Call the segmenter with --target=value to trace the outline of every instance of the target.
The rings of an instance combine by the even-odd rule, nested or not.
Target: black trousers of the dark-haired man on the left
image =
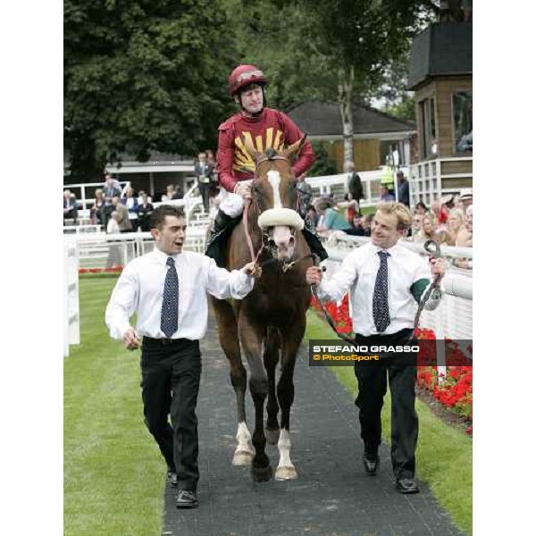
[[[197,394],[201,378],[198,340],[163,344],[144,337],[141,348],[141,396],[148,430],[179,488],[197,490]],[[168,420],[171,417],[171,424]]]

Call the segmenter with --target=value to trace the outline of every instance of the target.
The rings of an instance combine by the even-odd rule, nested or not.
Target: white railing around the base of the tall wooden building
[[[419,201],[430,206],[433,201],[448,193],[443,189],[443,179],[471,179],[472,172],[446,173],[445,164],[470,162],[473,156],[457,156],[453,158],[433,158],[412,164],[409,168],[410,204],[415,206]],[[456,188],[455,188],[456,189]]]

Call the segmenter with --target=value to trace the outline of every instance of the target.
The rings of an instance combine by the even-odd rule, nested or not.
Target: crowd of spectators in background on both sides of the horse
[[[359,202],[363,199],[363,186],[353,164],[348,166],[348,192],[344,200],[337,202],[331,196],[313,199],[310,186],[300,182],[300,199],[306,218],[322,237],[333,233],[353,236],[371,236],[373,214],[362,214]],[[195,163],[199,193],[203,198],[205,212],[210,200],[218,193],[217,169],[214,153],[210,150],[199,153]],[[394,185],[381,184],[381,201],[394,201]],[[409,183],[402,172],[397,173],[397,195],[401,203],[409,206]],[[181,199],[182,189],[174,185],[166,188],[162,201]],[[217,197],[214,204],[217,205]],[[154,211],[152,199],[143,190],[138,195],[133,188],[126,188],[121,195],[118,180],[107,173],[102,188],[97,188],[95,201],[89,210],[92,224],[101,225],[106,232],[133,232],[149,230],[149,218]],[[413,209],[412,226],[407,230],[406,240],[425,242],[433,240],[439,245],[473,247],[473,190],[463,188],[459,194],[436,199],[430,207],[421,201]],[[63,221],[76,223],[77,200],[70,190],[63,192]],[[464,263],[461,263],[464,264]]]

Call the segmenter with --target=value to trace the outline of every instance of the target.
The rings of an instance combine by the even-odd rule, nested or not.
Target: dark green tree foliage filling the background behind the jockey
[[[71,173],[95,179],[123,152],[145,160],[151,150],[214,147],[219,122],[234,110],[227,78],[238,63],[265,71],[268,104],[282,110],[320,99],[348,111],[382,91],[393,105],[424,5],[430,1],[64,0]]]

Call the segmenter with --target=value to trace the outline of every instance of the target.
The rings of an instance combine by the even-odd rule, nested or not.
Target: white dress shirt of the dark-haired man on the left
[[[127,264],[106,307],[105,322],[113,339],[122,339],[130,328],[129,318],[138,314],[139,336],[163,339],[160,329],[166,255],[155,249]],[[206,292],[214,297],[241,299],[253,289],[254,279],[244,272],[218,268],[205,255],[183,251],[172,255],[179,276],[179,329],[172,339],[201,339],[206,332]]]

